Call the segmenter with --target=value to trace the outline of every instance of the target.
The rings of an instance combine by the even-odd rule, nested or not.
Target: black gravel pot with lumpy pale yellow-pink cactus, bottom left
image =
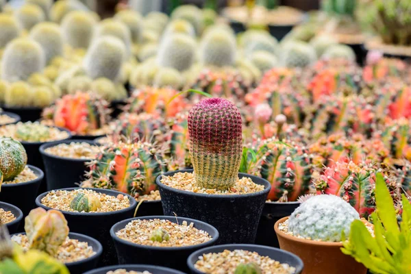
[[[32,210],[25,217],[25,234],[12,235],[23,251],[38,250],[66,264],[71,273],[94,269],[103,251],[101,244],[88,236],[69,232],[62,212]]]

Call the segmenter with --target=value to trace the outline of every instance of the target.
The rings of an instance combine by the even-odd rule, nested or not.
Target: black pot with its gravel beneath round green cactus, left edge
[[[43,177],[44,173],[40,169],[28,164],[14,179],[1,184],[0,201],[20,208],[23,216],[26,216],[34,207]]]

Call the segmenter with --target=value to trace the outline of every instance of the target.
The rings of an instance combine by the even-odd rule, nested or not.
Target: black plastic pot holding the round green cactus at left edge
[[[44,173],[37,167],[29,164],[27,166],[34,171],[37,179],[25,183],[2,184],[0,191],[0,201],[11,203],[13,206],[20,208],[23,216],[27,216],[30,210],[34,208],[38,188],[44,177]]]

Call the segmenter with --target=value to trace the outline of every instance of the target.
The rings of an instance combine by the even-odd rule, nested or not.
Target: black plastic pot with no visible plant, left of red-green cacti
[[[86,172],[86,162],[91,159],[64,158],[51,155],[45,149],[59,144],[70,144],[71,142],[87,142],[90,145],[97,145],[90,140],[62,140],[58,142],[46,143],[40,146],[40,154],[45,166],[47,179],[47,190],[58,188],[74,188],[76,183],[82,182]]]

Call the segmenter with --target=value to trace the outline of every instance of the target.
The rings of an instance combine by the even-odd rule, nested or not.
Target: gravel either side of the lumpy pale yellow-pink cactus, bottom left
[[[29,241],[24,234],[17,234],[12,236],[12,241],[23,247],[23,250],[29,249]],[[88,246],[87,242],[79,242],[79,240],[70,239],[69,237],[58,248],[55,258],[60,262],[66,264],[68,262],[78,262],[95,255],[92,247]]]

